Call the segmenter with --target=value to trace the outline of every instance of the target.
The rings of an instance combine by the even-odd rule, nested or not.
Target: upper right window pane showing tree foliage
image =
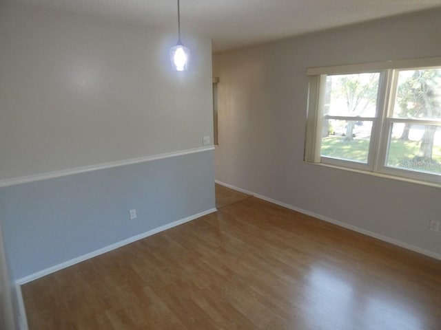
[[[441,120],[441,69],[400,71],[393,117]]]

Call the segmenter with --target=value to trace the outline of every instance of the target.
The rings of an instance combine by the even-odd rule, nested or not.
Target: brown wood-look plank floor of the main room
[[[255,197],[22,290],[31,330],[441,329],[441,261]]]

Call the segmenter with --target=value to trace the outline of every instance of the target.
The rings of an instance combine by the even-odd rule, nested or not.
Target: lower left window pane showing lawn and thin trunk
[[[367,164],[372,122],[323,120],[320,155]]]

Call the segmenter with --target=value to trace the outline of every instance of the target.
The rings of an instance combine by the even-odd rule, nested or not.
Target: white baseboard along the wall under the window
[[[263,199],[264,201],[269,201],[270,203],[274,203],[274,204],[276,204],[278,206],[283,206],[284,208],[289,208],[289,210],[294,210],[296,212],[300,212],[302,214],[309,215],[309,216],[314,217],[316,219],[319,219],[319,220],[322,220],[322,221],[327,221],[329,223],[333,223],[334,225],[338,225],[340,227],[352,230],[354,232],[359,232],[360,234],[365,234],[367,236],[371,236],[374,239],[379,239],[380,241],[391,243],[393,245],[400,246],[401,248],[404,248],[404,249],[407,249],[407,250],[411,250],[413,252],[418,252],[420,254],[424,254],[424,256],[430,256],[433,259],[441,260],[441,254],[438,254],[438,253],[435,253],[435,252],[431,252],[429,250],[425,250],[425,249],[419,248],[418,246],[411,245],[411,244],[408,244],[408,243],[404,243],[402,241],[398,241],[397,239],[392,239],[389,236],[384,236],[382,234],[377,234],[376,232],[371,232],[369,230],[365,230],[363,228],[356,227],[355,225],[349,225],[348,223],[345,223],[345,222],[342,222],[342,221],[338,221],[336,219],[332,219],[332,218],[326,217],[325,215],[322,215],[322,214],[317,214],[317,213],[314,213],[314,212],[310,212],[308,210],[303,210],[302,208],[297,208],[296,206],[292,206],[292,205],[289,205],[287,203],[283,203],[281,201],[277,201],[276,199],[271,199],[269,197],[265,197],[263,195],[256,194],[256,193],[254,193],[252,191],[232,186],[231,184],[225,184],[224,182],[217,181],[217,180],[215,182],[216,182],[216,184],[220,184],[221,186],[225,186],[227,188],[231,188],[231,189],[237,190],[238,192],[243,192],[243,193],[248,194],[248,195],[253,195],[254,197],[256,197],[258,199]]]

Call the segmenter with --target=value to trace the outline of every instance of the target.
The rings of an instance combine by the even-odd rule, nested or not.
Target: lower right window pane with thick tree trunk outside
[[[387,166],[441,175],[441,127],[393,123]]]

